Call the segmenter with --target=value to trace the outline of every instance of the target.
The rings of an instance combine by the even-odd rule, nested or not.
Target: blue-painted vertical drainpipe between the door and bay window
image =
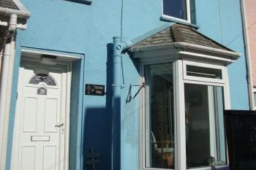
[[[113,113],[112,113],[112,170],[120,170],[120,129],[121,129],[121,88],[122,64],[121,53],[131,46],[122,42],[118,36],[113,37]]]

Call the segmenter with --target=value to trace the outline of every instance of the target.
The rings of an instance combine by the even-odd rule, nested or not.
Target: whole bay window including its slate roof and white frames
[[[164,0],[181,2],[170,1]],[[178,23],[129,51],[140,58],[146,85],[140,101],[140,169],[228,168],[223,119],[223,110],[230,109],[227,65],[240,54]]]

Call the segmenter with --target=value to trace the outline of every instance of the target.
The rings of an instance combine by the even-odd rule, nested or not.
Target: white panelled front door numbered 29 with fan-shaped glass
[[[12,170],[67,169],[69,66],[23,61],[12,145]],[[68,128],[68,127],[67,127]],[[65,152],[66,148],[66,152]]]

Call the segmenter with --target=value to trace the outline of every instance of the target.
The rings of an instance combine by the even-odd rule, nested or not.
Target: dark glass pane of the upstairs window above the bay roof
[[[187,20],[186,0],[163,0],[163,13],[174,18]]]

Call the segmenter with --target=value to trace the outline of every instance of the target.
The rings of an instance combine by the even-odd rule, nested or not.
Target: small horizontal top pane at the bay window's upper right
[[[206,77],[212,79],[222,79],[222,70],[187,65],[187,75],[195,77]]]

